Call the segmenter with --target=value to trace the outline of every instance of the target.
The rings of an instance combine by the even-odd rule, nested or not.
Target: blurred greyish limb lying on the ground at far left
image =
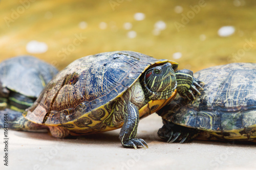
[[[48,129],[47,126],[29,122],[21,112],[11,109],[0,110],[0,128],[19,131],[46,131]]]

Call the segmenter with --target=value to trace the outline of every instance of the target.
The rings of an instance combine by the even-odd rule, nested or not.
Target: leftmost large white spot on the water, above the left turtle
[[[31,54],[45,53],[48,50],[48,45],[45,42],[32,40],[27,43],[26,50]]]

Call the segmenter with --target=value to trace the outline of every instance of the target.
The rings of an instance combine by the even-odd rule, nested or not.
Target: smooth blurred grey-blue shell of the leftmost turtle
[[[52,65],[32,56],[5,60],[0,63],[0,92],[7,88],[37,98],[57,72]]]

